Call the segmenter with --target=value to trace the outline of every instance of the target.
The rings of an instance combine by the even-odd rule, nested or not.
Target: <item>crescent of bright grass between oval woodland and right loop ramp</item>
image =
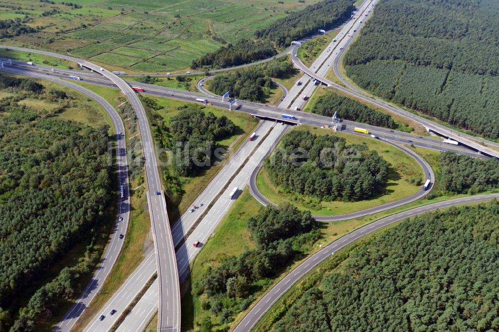
[[[293,130],[308,130],[317,135],[336,135],[344,138],[347,144],[366,144],[369,150],[376,150],[390,164],[386,192],[369,200],[358,202],[322,201],[318,208],[310,208],[306,206],[306,197],[284,193],[270,181],[266,170],[262,168],[256,178],[257,186],[263,195],[276,204],[290,201],[299,209],[310,210],[314,215],[337,215],[393,202],[421,190],[419,184],[411,184],[407,179],[411,176],[420,176],[423,179],[423,170],[413,158],[391,145],[367,137],[333,133],[317,127],[299,126]]]

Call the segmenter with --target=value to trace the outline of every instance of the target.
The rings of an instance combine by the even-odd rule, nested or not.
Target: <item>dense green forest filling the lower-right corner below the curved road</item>
[[[353,249],[273,330],[498,331],[498,258],[497,200],[426,213]]]

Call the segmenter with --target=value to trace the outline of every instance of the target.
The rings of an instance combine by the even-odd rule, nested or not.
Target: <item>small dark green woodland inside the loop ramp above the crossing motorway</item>
[[[295,73],[287,58],[280,58],[267,63],[215,76],[210,82],[210,90],[218,95],[230,91],[230,96],[254,102],[264,102],[273,86],[270,77],[282,78]]]

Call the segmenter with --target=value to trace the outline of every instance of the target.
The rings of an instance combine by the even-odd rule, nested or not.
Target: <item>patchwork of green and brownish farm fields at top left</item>
[[[12,0],[1,19],[36,32],[0,40],[98,61],[128,72],[184,71],[192,60],[251,38],[287,13],[319,0]]]

